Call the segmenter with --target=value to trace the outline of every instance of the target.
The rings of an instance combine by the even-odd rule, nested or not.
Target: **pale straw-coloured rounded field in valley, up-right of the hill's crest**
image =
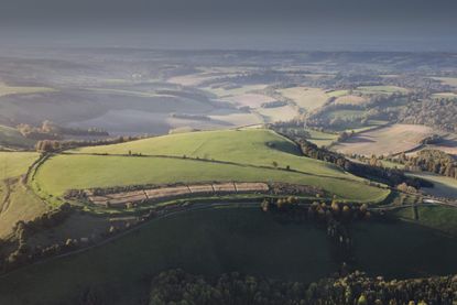
[[[319,88],[292,87],[278,91],[284,97],[292,99],[300,108],[306,109],[307,111],[322,107],[329,97]]]

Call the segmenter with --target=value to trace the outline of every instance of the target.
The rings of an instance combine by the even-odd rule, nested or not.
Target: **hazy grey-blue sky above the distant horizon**
[[[0,0],[9,43],[457,51],[457,0]]]

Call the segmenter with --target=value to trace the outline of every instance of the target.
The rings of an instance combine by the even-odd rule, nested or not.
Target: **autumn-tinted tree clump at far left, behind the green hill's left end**
[[[19,132],[25,138],[34,140],[61,140],[64,134],[67,135],[91,135],[91,137],[108,137],[108,132],[98,128],[79,129],[65,128],[52,121],[44,121],[41,127],[33,127],[30,124],[19,124]]]

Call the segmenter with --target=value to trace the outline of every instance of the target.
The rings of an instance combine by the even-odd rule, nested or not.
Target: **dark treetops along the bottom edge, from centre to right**
[[[205,277],[170,270],[152,280],[149,304],[440,305],[454,304],[456,291],[453,276],[387,281],[356,271],[307,285],[238,272]]]

